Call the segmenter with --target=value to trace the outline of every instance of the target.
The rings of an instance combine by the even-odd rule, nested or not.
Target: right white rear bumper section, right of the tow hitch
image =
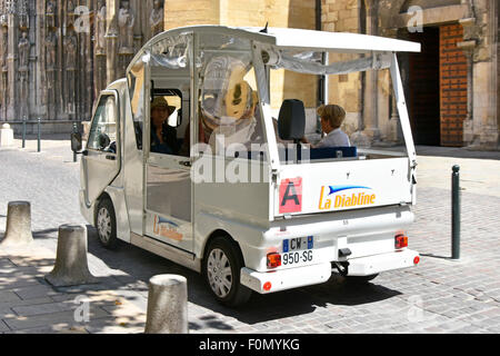
[[[419,253],[411,249],[349,259],[348,276],[370,276],[386,270],[416,266]]]

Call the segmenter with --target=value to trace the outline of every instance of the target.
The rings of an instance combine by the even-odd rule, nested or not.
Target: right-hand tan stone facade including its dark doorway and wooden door
[[[416,144],[498,149],[498,0],[321,0],[324,31],[418,41],[400,56]],[[330,100],[347,108],[354,139],[400,139],[386,71],[333,78]]]

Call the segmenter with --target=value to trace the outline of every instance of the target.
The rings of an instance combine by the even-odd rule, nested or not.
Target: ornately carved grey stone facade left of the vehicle
[[[163,16],[162,0],[0,0],[0,121],[19,131],[41,118],[57,132],[88,120]]]

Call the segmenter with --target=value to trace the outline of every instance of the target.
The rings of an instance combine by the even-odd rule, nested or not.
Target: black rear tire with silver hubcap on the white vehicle
[[[223,236],[210,241],[204,254],[202,273],[209,289],[220,304],[238,307],[250,299],[252,290],[240,284],[240,269],[243,266],[234,241]]]

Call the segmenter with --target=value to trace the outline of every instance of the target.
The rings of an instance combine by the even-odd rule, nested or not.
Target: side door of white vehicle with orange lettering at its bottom
[[[192,251],[191,164],[189,150],[182,151],[182,141],[190,132],[189,82],[186,86],[152,90],[147,125],[150,137],[146,161],[146,235]]]

